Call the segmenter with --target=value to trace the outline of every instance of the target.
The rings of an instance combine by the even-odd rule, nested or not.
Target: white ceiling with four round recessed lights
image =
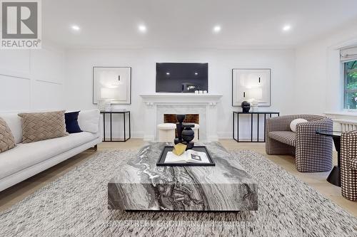
[[[44,43],[65,48],[290,47],[357,19],[356,0],[44,0],[42,9]]]

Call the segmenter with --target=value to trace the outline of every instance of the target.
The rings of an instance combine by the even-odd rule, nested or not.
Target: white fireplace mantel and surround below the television
[[[157,125],[164,120],[165,113],[197,113],[200,115],[200,138],[218,140],[217,103],[222,95],[191,93],[155,93],[140,95],[145,106],[145,133],[147,141],[156,140]]]

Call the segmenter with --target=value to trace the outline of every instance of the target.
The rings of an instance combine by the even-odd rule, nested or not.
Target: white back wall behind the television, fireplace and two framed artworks
[[[139,95],[155,93],[156,62],[208,62],[208,90],[223,95],[218,105],[218,135],[231,138],[231,69],[271,68],[271,107],[282,114],[293,112],[293,81],[295,52],[292,50],[198,50],[198,49],[131,49],[131,50],[70,50],[66,51],[66,107],[69,110],[94,108],[92,104],[92,67],[131,66],[133,137],[143,136],[144,105]],[[246,120],[242,136],[248,138],[250,125]]]

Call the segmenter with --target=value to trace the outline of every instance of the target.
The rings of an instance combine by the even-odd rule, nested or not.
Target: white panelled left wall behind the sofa
[[[0,112],[64,107],[64,51],[0,51]]]

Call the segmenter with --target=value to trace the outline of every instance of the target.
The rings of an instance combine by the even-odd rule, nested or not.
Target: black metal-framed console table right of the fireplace
[[[236,116],[237,115],[237,116]],[[251,140],[250,141],[240,141],[239,140],[239,115],[251,115]],[[253,115],[257,116],[257,136],[256,140],[253,141]],[[264,130],[265,130],[265,125],[266,125],[266,117],[267,115],[271,117],[271,115],[280,115],[280,112],[237,112],[233,111],[233,139],[236,140],[236,142],[266,142],[266,135],[264,132],[264,140],[260,141],[259,140],[259,115],[264,115]],[[237,117],[237,120],[236,120]],[[236,124],[236,126],[235,126]],[[237,132],[237,138],[235,137],[235,127],[236,127],[236,132]]]

